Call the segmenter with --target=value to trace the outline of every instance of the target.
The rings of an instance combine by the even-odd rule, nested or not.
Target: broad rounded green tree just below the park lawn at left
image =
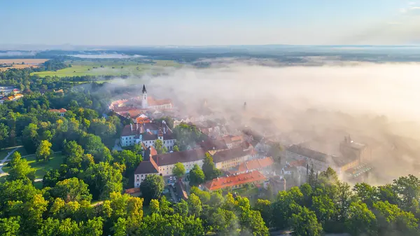
[[[52,197],[59,197],[66,202],[80,202],[81,200],[90,202],[92,195],[90,195],[87,187],[87,184],[83,180],[77,178],[64,179],[52,188],[51,195]]]

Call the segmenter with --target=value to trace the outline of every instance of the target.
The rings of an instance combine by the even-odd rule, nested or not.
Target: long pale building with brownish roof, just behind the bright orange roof
[[[213,162],[216,168],[228,170],[254,158],[255,154],[251,145],[248,147],[238,146],[214,153]]]

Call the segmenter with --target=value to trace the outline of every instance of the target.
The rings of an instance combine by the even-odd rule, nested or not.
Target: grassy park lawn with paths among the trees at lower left
[[[63,159],[64,159],[64,155],[62,155],[61,153],[54,153],[54,155],[52,156],[52,158],[48,161],[48,162],[36,162],[35,159],[35,155],[29,155],[27,157],[25,157],[25,159],[27,159],[29,165],[36,169],[35,172],[35,178],[36,179],[42,179],[43,176],[45,175],[45,172],[48,169],[58,169],[59,165],[62,165],[63,163]],[[4,172],[8,172],[10,170],[10,167],[3,167],[3,171]]]

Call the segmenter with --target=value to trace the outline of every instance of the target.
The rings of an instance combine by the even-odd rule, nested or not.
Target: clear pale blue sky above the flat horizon
[[[0,0],[0,44],[420,44],[420,1]]]

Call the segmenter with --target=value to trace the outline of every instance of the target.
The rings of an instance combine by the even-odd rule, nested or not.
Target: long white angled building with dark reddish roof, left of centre
[[[188,151],[179,151],[165,154],[157,154],[155,148],[148,147],[144,152],[144,160],[140,162],[134,171],[134,187],[138,188],[146,176],[149,174],[159,174],[160,176],[172,176],[174,165],[181,162],[186,168],[186,173],[190,172],[195,164],[202,167],[205,157],[202,148]]]

